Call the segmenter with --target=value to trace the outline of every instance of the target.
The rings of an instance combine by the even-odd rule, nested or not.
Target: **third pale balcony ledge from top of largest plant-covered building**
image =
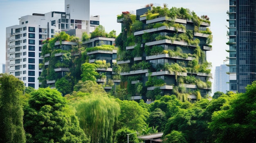
[[[160,44],[175,44],[175,45],[196,47],[196,45],[188,44],[188,43],[185,42],[185,41],[175,41],[175,40],[174,40],[174,41],[172,42],[171,40],[168,40],[168,39],[157,40],[157,41],[145,43],[145,45],[147,45],[147,46],[160,45]]]

